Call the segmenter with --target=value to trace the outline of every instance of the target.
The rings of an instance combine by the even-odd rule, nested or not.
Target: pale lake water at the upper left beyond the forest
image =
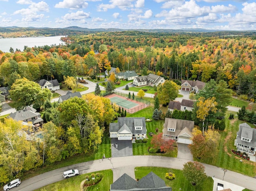
[[[50,37],[24,37],[24,38],[0,38],[0,50],[3,52],[10,52],[10,47],[14,49],[24,50],[24,46],[44,46],[44,45],[59,45],[65,44],[60,40],[65,36],[50,36]]]

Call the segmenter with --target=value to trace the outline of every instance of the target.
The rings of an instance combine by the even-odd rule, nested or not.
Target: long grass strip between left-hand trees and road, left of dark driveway
[[[42,173],[45,173],[45,172],[48,172],[48,171],[51,171],[54,169],[69,166],[72,164],[101,159],[103,154],[105,154],[106,158],[110,158],[111,157],[111,149],[110,148],[111,148],[111,140],[108,137],[108,134],[104,134],[104,136],[102,138],[102,144],[100,144],[100,146],[98,147],[98,150],[96,152],[76,155],[76,156],[64,159],[62,161],[56,162],[50,166],[45,166],[42,168],[30,170],[30,171],[24,173],[24,175],[22,176],[22,180],[28,179],[30,177],[34,177],[36,175],[39,175],[39,174],[42,174]]]

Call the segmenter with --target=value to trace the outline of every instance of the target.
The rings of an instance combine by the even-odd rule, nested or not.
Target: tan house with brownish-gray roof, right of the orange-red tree
[[[173,139],[177,143],[192,144],[194,121],[165,118],[163,138]]]

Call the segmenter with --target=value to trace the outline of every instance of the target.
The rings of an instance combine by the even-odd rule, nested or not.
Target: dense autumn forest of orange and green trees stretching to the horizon
[[[63,76],[97,75],[107,65],[166,79],[224,80],[235,95],[254,101],[256,40],[254,32],[98,32],[63,37],[66,45],[24,47],[0,53],[0,85],[17,78],[31,81]]]

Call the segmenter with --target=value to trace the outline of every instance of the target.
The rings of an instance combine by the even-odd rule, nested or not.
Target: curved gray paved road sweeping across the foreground
[[[155,167],[167,167],[174,169],[182,169],[183,164],[190,160],[180,158],[169,158],[161,156],[128,156],[128,157],[116,157],[98,159],[95,161],[88,161],[71,165],[69,167],[63,167],[47,173],[43,173],[36,177],[32,177],[25,181],[22,181],[18,188],[12,189],[12,191],[33,191],[45,185],[54,183],[56,181],[63,180],[62,173],[68,169],[79,169],[80,174],[92,173],[99,170],[113,169],[126,169],[127,167],[138,166],[155,166]],[[256,179],[241,175],[239,173],[224,170],[222,168],[204,164],[205,172],[210,177],[215,177],[220,180],[224,180],[241,187],[246,187],[251,190],[255,190]],[[116,179],[116,178],[115,178]]]

